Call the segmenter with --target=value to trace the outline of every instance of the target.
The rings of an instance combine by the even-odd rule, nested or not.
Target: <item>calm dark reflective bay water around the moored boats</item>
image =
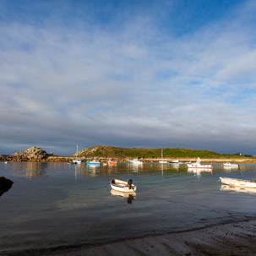
[[[221,188],[219,177],[253,180],[256,165],[190,172],[187,166],[0,162],[14,181],[0,197],[0,253],[191,230],[256,217],[256,193]],[[137,185],[111,191],[112,178]]]

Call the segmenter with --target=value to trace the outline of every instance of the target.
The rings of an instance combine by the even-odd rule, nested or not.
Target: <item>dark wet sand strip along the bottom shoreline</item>
[[[242,221],[122,242],[109,242],[77,248],[63,247],[42,250],[41,252],[31,250],[14,254],[54,256],[256,255],[256,221]],[[14,254],[12,253],[12,255]]]

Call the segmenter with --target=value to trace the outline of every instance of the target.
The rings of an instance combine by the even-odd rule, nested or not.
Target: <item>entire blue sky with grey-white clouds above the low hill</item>
[[[256,155],[256,2],[0,0],[0,154]]]

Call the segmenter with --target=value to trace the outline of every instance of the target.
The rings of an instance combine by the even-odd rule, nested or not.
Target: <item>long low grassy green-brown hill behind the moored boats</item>
[[[189,150],[189,149],[146,149],[146,148],[121,148],[112,146],[94,146],[86,150],[79,151],[79,156],[85,157],[142,157],[160,158],[161,150],[164,157],[201,157],[201,158],[244,158],[253,157],[251,155],[229,155],[219,154],[210,150]]]

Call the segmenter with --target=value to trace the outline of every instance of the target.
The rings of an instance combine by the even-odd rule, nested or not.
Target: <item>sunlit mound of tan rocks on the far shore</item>
[[[17,152],[14,155],[9,155],[10,161],[41,161],[46,159],[48,154],[45,150],[41,150],[39,147],[32,147],[28,150]]]

